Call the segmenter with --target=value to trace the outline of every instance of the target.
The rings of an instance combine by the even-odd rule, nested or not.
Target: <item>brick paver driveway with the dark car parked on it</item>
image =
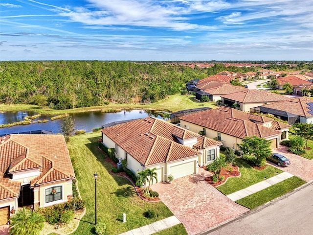
[[[277,168],[280,168],[288,173],[291,173],[299,178],[310,182],[313,180],[313,161],[303,158],[299,155],[295,155],[291,152],[288,152],[288,147],[281,146],[279,148],[273,149],[273,153],[280,153],[288,158],[291,162],[287,167],[278,166],[272,162],[269,164],[275,165]]]

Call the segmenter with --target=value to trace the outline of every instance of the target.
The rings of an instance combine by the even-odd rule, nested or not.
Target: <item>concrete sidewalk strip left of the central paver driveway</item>
[[[171,217],[156,221],[152,224],[148,224],[140,228],[127,231],[120,235],[150,235],[150,234],[159,232],[161,230],[171,228],[180,223],[181,222],[179,221],[179,219],[175,215],[173,215]]]

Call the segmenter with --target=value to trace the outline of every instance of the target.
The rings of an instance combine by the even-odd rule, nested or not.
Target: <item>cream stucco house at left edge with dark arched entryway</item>
[[[0,137],[0,224],[10,211],[47,207],[72,199],[75,179],[63,135]]]

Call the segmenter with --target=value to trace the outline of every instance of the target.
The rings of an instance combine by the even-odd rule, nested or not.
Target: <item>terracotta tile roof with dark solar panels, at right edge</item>
[[[302,117],[313,117],[312,114],[309,113],[310,109],[307,103],[313,102],[313,99],[308,97],[298,97],[289,99],[287,101],[276,102],[272,104],[263,105],[263,107],[277,109],[289,112],[291,114],[296,114]]]

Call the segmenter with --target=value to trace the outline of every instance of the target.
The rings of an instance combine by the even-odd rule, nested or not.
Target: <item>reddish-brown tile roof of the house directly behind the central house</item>
[[[254,123],[251,120],[258,118],[251,118],[251,116],[255,115],[246,114],[240,110],[228,107],[221,107],[183,116],[180,117],[180,119],[241,139],[244,139],[246,136],[268,138],[281,134],[280,131]],[[264,119],[268,120],[270,118],[265,117]],[[260,121],[260,119],[258,121]],[[274,126],[274,128],[276,128],[276,126]]]

